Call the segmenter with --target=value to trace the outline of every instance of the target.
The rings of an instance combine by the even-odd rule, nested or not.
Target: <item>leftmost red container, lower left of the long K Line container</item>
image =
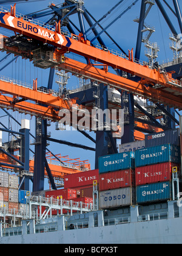
[[[53,197],[55,199],[62,196],[62,199],[73,199],[78,195],[78,191],[72,188],[66,188],[63,190],[49,190],[45,191],[45,197]]]

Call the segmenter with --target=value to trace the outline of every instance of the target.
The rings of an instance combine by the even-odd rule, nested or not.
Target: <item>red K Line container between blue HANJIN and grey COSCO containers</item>
[[[99,191],[127,188],[133,185],[135,185],[135,174],[132,169],[106,172],[99,176]]]

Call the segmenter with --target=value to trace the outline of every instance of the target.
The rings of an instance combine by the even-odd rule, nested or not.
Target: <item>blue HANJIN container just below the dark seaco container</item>
[[[180,147],[164,144],[135,151],[136,167],[166,162],[180,163]]]

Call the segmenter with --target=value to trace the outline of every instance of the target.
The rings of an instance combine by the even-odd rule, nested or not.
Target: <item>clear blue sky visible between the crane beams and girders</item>
[[[60,4],[63,2],[63,0],[55,0],[53,1],[56,4]],[[118,0],[110,1],[110,0],[85,0],[85,7],[87,10],[89,10],[90,13],[96,18],[96,20],[99,20],[105,13],[110,10],[113,5],[115,5]],[[120,8],[116,9],[115,12],[113,12],[111,15],[108,16],[108,18],[104,19],[101,24],[103,27],[106,27],[112,20],[115,19],[117,15],[122,13],[130,4],[132,4],[134,0],[124,0],[123,4],[120,5]],[[168,0],[170,6],[173,7],[172,0]],[[180,7],[182,10],[182,3],[180,2]],[[45,1],[34,1],[34,2],[24,2],[21,4],[16,5],[16,11],[19,13],[27,14],[31,12],[36,12],[38,10],[46,9],[49,5],[50,0]],[[115,24],[113,24],[107,32],[113,37],[113,39],[120,44],[120,46],[124,49],[124,51],[128,52],[128,49],[135,49],[136,46],[136,37],[138,33],[138,23],[133,22],[135,18],[140,16],[140,5],[141,0],[138,1],[133,7],[124,14],[118,21],[116,21]],[[6,8],[10,6],[10,4],[4,5]],[[173,7],[174,8],[174,7]],[[166,8],[167,10],[167,8]],[[177,32],[180,34],[180,29],[177,23],[177,20],[175,16],[167,10],[167,13],[169,13],[169,16],[172,20],[172,23],[177,29]],[[78,17],[76,15],[72,16],[70,18],[77,26],[78,25]],[[39,20],[47,21],[49,20],[49,16],[40,18]],[[160,47],[159,57],[158,61],[162,62],[166,59],[172,59],[173,54],[172,51],[169,49],[169,34],[170,30],[169,27],[166,25],[166,22],[164,21],[163,16],[161,15],[160,11],[157,8],[157,5],[155,4],[152,7],[152,10],[150,11],[149,15],[146,18],[146,24],[150,26],[154,26],[156,32],[152,35],[150,38],[150,41],[157,42],[158,46]],[[88,28],[87,23],[85,23],[86,29]],[[98,31],[100,29],[98,28]],[[4,35],[13,35],[13,33],[8,32],[5,29],[0,29],[0,33]],[[106,42],[106,46],[117,49],[116,46],[113,44],[110,39],[106,37],[105,34],[102,35],[103,40]],[[88,35],[89,40],[92,40],[93,34]],[[141,52],[141,60],[147,60],[144,51],[146,48],[144,48],[144,44],[142,46],[142,52]],[[1,53],[1,57],[4,57],[5,53]],[[9,60],[12,59],[13,56],[9,57],[8,60],[4,61],[3,63],[0,63],[0,68],[4,66]],[[72,58],[72,55],[70,55]],[[29,62],[29,60],[22,60],[21,58],[18,58],[16,60],[16,63],[10,64],[7,68],[3,69],[3,71],[0,72],[0,75],[12,77],[14,79],[18,80],[24,80],[27,83],[32,84],[33,79],[36,79],[38,77],[38,85],[42,85],[47,87],[47,81],[49,77],[49,71],[41,70],[38,68],[35,68],[32,66],[32,63]],[[56,77],[56,76],[55,76]],[[69,80],[69,84],[67,85],[67,88],[76,88],[76,86],[79,85],[79,80],[75,77],[72,77]],[[56,90],[58,89],[58,85],[54,82],[53,88]],[[13,116],[15,116],[16,119],[18,119],[19,122],[21,122],[21,118],[27,118],[30,119],[30,127],[31,132],[35,134],[35,118],[30,118],[30,116],[25,116],[23,114],[19,114],[16,112],[13,112],[12,110],[9,110],[9,113],[11,113]],[[4,115],[4,112],[0,110],[0,116]],[[0,121],[8,126],[8,119],[7,117],[0,118]],[[15,123],[15,121],[11,121],[12,129],[18,130],[19,126]],[[51,127],[48,128],[52,132],[52,138],[58,138],[61,140],[67,140],[75,143],[80,144],[86,144],[90,147],[95,147],[95,144],[92,143],[87,138],[84,138],[83,135],[79,132],[61,132],[55,130],[55,124],[52,124]],[[91,133],[92,136],[95,138],[95,134]],[[4,139],[6,138],[6,135],[3,133]],[[95,153],[90,151],[84,151],[83,149],[75,149],[70,148],[69,146],[59,145],[55,143],[51,143],[49,146],[49,149],[53,151],[54,154],[62,154],[62,155],[69,155],[70,158],[78,158],[80,157],[81,160],[89,160],[92,164],[92,169],[94,169],[94,158]]]

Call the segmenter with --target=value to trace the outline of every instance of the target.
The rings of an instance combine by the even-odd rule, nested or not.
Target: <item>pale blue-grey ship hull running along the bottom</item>
[[[181,241],[182,217],[0,238],[1,244],[181,244]]]

